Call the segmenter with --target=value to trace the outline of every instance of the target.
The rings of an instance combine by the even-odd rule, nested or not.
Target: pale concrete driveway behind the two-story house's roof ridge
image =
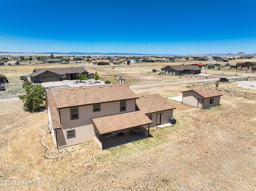
[[[82,82],[76,83],[76,80],[64,80],[58,82],[45,82],[42,83],[44,87],[48,87],[49,89],[58,89],[58,88],[67,88],[67,87],[80,87],[80,86],[95,86],[95,85],[103,85],[105,82],[98,80],[96,83],[95,80],[83,80]]]

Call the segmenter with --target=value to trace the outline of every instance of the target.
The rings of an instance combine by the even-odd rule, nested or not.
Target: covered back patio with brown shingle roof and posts
[[[152,121],[141,111],[92,119],[94,140],[103,150],[150,136]],[[148,128],[142,126],[148,125]]]

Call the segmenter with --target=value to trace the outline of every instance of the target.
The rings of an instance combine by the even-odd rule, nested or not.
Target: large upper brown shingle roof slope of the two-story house
[[[127,84],[50,89],[48,91],[52,91],[57,108],[138,98]]]

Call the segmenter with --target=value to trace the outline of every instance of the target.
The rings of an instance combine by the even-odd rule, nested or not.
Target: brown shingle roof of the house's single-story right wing
[[[175,109],[172,103],[159,94],[140,96],[136,105],[144,114]]]

